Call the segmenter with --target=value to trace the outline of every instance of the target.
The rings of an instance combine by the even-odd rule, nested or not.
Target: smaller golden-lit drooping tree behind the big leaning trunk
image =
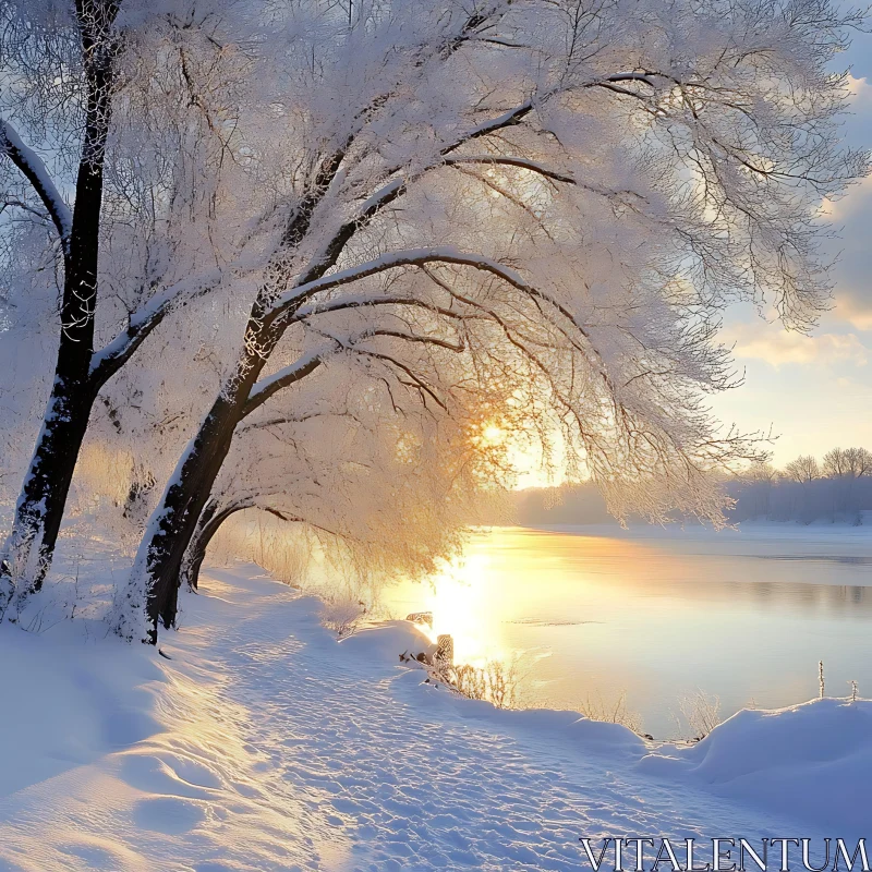
[[[332,368],[327,378],[347,385],[347,368]],[[298,524],[363,578],[426,576],[460,545],[479,488],[506,471],[498,444],[476,444],[482,422],[457,408],[451,417],[412,402],[395,408],[375,379],[331,411],[324,380],[315,396],[294,398],[306,412],[240,427],[185,554],[183,583],[196,586],[213,536],[246,509]]]

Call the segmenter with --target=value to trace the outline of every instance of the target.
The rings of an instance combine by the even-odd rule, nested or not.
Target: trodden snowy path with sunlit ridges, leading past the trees
[[[166,637],[172,662],[92,646],[138,670],[138,697],[68,664],[105,750],[0,791],[0,869],[573,870],[580,836],[800,831],[644,774],[620,728],[422,686],[395,652],[408,626],[337,644],[288,589],[220,571],[205,586]]]

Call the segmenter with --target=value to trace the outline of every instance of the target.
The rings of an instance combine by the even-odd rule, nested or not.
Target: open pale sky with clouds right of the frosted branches
[[[872,35],[857,34],[839,65],[851,72],[845,141],[872,148]],[[836,203],[832,218],[840,231],[834,306],[810,336],[750,306],[732,308],[724,323],[744,384],[712,405],[743,431],[771,431],[776,465],[835,446],[872,449],[872,178]]]

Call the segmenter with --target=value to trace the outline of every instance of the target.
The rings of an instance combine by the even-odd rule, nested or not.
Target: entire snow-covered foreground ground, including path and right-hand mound
[[[338,643],[255,574],[185,597],[171,661],[0,630],[0,869],[572,870],[580,836],[868,835],[872,703],[651,746],[424,685],[410,625]]]

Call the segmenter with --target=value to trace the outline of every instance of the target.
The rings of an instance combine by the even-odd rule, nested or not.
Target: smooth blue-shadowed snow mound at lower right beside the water
[[[654,751],[638,768],[829,826],[833,835],[863,834],[872,822],[872,702],[824,699],[746,710],[699,744]]]

